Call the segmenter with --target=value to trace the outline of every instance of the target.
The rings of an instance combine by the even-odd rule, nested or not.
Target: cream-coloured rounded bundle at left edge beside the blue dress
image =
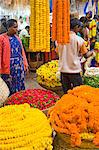
[[[6,101],[6,99],[9,96],[9,94],[10,94],[10,92],[9,92],[9,89],[8,89],[6,83],[0,77],[0,107]]]

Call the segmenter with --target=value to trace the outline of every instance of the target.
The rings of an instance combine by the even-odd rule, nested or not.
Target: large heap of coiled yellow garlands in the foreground
[[[47,117],[28,104],[0,108],[0,150],[52,150]]]

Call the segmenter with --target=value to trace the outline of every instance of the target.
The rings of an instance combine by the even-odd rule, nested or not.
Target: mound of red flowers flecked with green
[[[52,91],[28,89],[10,96],[5,105],[28,103],[31,107],[44,110],[53,106],[57,100],[59,100],[59,96]]]

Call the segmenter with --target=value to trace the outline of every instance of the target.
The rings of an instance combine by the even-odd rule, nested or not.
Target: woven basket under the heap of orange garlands
[[[82,140],[80,147],[72,147],[70,145],[70,136],[65,134],[57,134],[54,140],[53,150],[99,150],[90,140]]]

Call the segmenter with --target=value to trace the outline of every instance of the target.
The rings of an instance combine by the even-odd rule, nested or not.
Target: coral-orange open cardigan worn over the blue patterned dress
[[[16,36],[17,37],[17,36]],[[17,37],[21,43],[19,37]],[[22,45],[22,43],[21,43]],[[22,56],[24,61],[24,67],[28,67],[26,55],[22,46]],[[10,42],[8,35],[0,35],[0,74],[10,74]]]

